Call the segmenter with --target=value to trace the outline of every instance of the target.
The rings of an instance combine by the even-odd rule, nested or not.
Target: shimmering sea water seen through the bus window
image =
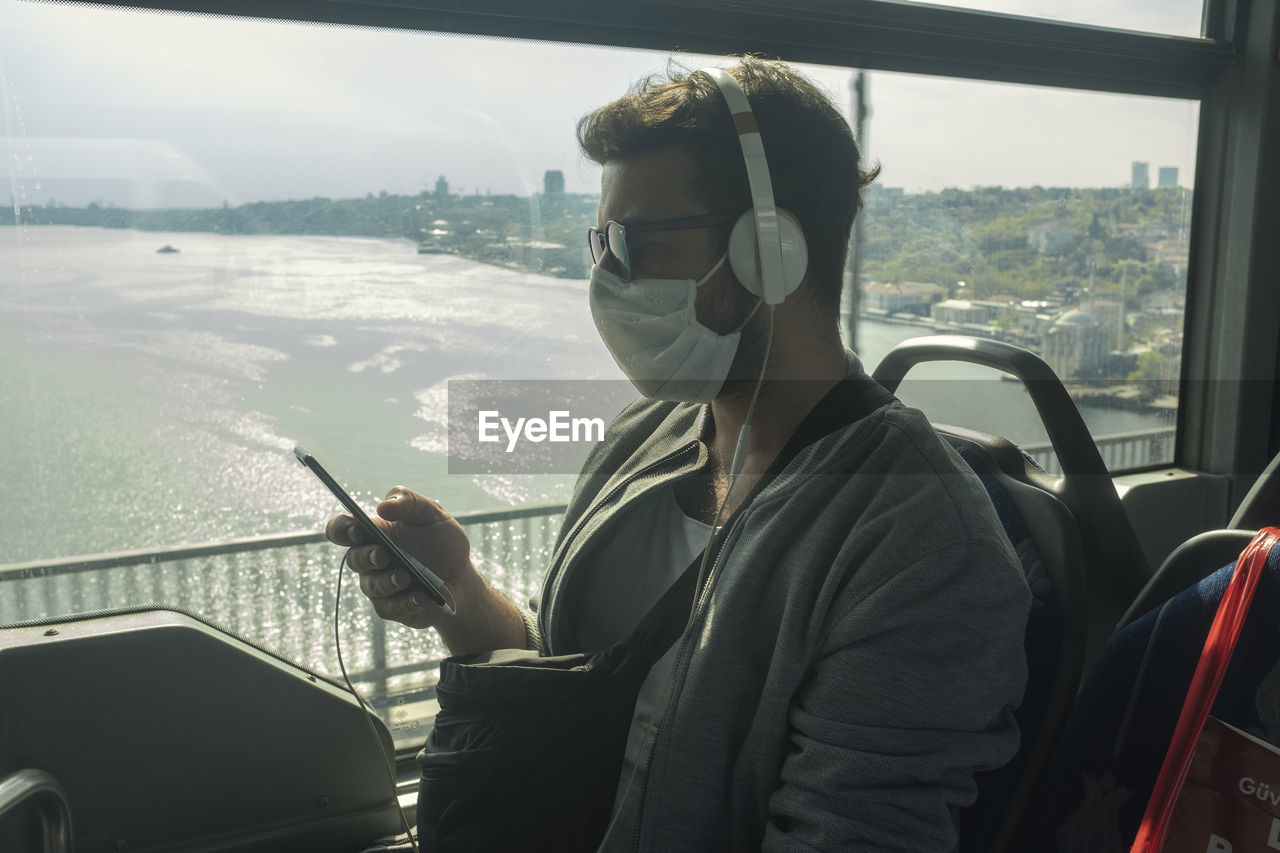
[[[918,334],[863,320],[859,355]],[[906,400],[933,420],[1043,441],[992,371],[919,375],[946,380]],[[393,484],[453,512],[566,500],[572,475],[448,473],[457,378],[621,374],[582,280],[407,241],[3,228],[0,564],[320,529],[337,502],[294,444],[366,505]],[[1084,414],[1096,434],[1167,425]]]

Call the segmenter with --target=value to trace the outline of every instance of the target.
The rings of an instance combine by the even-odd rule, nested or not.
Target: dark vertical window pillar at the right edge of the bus
[[[1176,460],[1234,508],[1280,451],[1280,10],[1211,0],[1206,27],[1239,49],[1201,104]]]

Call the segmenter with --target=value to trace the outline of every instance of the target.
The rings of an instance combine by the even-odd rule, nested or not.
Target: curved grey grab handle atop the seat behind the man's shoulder
[[[966,336],[911,338],[891,350],[872,377],[892,392],[913,366],[927,361],[979,364],[1015,377],[1027,388],[1062,466],[1061,479],[1036,473],[1029,476],[1071,511],[1084,546],[1080,565],[1088,574],[1088,669],[1152,574],[1093,435],[1050,366],[1036,353],[1001,341]]]

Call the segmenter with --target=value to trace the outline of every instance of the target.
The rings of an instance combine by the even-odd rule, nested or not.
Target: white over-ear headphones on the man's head
[[[773,204],[773,183],[764,142],[755,123],[755,113],[742,87],[723,68],[704,68],[733,114],[737,141],[746,161],[746,179],[751,187],[753,210],[733,224],[728,238],[728,263],[733,275],[748,291],[767,305],[777,305],[800,287],[809,268],[809,247],[800,222],[790,210]]]

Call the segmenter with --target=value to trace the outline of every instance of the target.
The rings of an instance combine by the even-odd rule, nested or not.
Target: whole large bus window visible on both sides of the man
[[[165,603],[337,672],[339,552],[320,534],[337,505],[294,444],[366,505],[397,483],[440,500],[495,585],[535,592],[572,474],[451,473],[448,382],[621,378],[586,307],[599,172],[573,126],[671,56],[15,0],[0,15],[0,622]],[[799,68],[849,104],[855,72]],[[868,368],[896,336],[1046,347],[1062,327],[1106,351],[1068,370],[1082,387],[1176,375],[1194,102],[865,83],[883,173],[849,319]],[[1175,186],[1132,188],[1134,160]],[[1155,355],[1111,357],[1134,347]],[[948,410],[977,393],[942,378],[929,393],[950,398],[908,402],[1037,441]],[[1148,403],[1100,439],[1167,434]],[[347,669],[412,747],[443,648],[344,592]]]

